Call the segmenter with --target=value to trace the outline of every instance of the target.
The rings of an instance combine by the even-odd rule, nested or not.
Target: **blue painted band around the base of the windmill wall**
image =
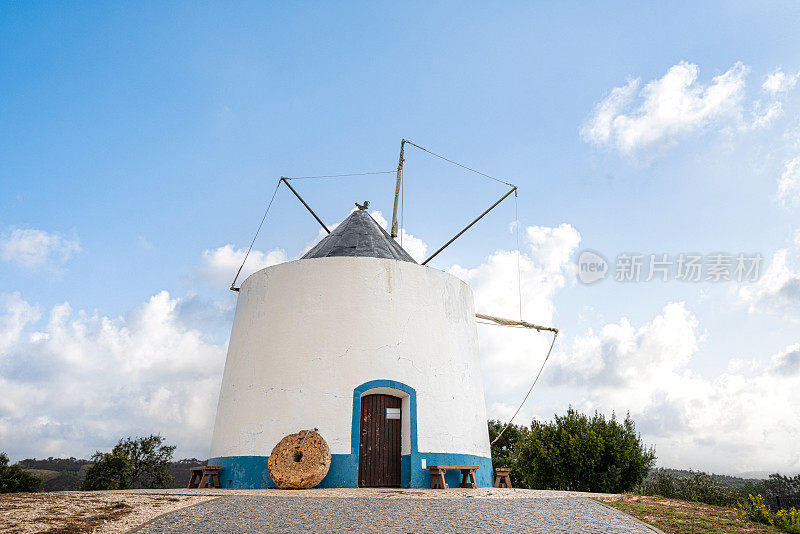
[[[222,456],[209,458],[208,465],[222,467],[219,481],[223,488],[274,488],[276,486],[272,482],[267,468],[268,458],[268,456]],[[422,469],[423,458],[427,465],[477,465],[475,481],[478,487],[488,488],[493,484],[491,458],[472,454],[420,452],[405,454],[401,458],[401,470],[405,475],[403,487],[430,487],[430,472]],[[446,480],[450,487],[457,488],[461,482],[461,473],[448,471]],[[358,455],[332,454],[328,475],[318,487],[358,487]]]

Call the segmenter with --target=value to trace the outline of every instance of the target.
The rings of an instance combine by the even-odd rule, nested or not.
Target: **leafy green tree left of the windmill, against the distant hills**
[[[175,446],[164,438],[120,440],[110,453],[96,452],[81,487],[94,489],[166,488],[172,483],[170,463]]]

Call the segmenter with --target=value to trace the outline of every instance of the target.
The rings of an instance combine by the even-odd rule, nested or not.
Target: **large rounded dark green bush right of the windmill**
[[[655,449],[642,444],[630,418],[617,421],[572,407],[555,421],[533,421],[517,445],[516,469],[525,485],[539,489],[630,491],[655,463]]]

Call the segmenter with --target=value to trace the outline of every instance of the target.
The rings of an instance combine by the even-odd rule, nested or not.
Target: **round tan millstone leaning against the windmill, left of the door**
[[[289,434],[275,445],[269,455],[269,475],[279,488],[313,488],[328,474],[331,467],[330,447],[322,436],[311,430],[300,451],[300,443],[305,435],[305,430]]]

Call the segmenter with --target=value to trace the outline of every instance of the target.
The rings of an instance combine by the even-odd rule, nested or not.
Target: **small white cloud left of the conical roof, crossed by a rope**
[[[230,244],[204,250],[203,266],[200,269],[199,278],[212,285],[229,287],[234,276],[236,276],[236,272],[242,265],[246,253],[246,249],[237,249]],[[251,250],[236,283],[241,284],[254,272],[271,265],[283,263],[286,260],[286,252],[279,248],[272,249],[269,252]]]

